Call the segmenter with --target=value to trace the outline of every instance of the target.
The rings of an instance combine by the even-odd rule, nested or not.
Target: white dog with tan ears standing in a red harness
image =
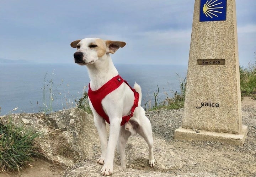
[[[121,165],[122,167],[126,166],[126,143],[131,134],[137,133],[145,139],[149,146],[149,165],[151,167],[155,166],[151,123],[145,116],[143,107],[140,106],[142,100],[141,88],[136,82],[134,89],[129,87],[125,81],[123,82],[110,56],[110,53],[114,54],[119,47],[124,47],[126,43],[98,38],[85,38],[76,40],[70,45],[73,48],[77,48],[74,53],[75,63],[86,65],[91,79],[88,94],[90,107],[94,114],[94,122],[100,136],[101,157],[98,158],[97,163],[104,164],[101,174],[108,176],[113,173],[114,150],[117,145],[121,156]],[[103,87],[108,89],[112,85],[115,88],[108,90],[110,93],[107,95],[101,96],[101,101],[98,100],[99,98],[92,98],[94,95],[101,95],[99,91]],[[139,93],[139,98],[136,98],[138,93],[135,92],[135,89]],[[137,103],[135,103],[136,100]],[[97,104],[100,105],[103,111],[96,111]],[[104,115],[107,116],[105,118],[106,121],[110,123],[108,142],[106,123],[103,119]]]

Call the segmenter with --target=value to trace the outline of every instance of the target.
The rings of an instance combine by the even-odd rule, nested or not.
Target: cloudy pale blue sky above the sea
[[[1,0],[0,58],[74,63],[77,39],[127,45],[118,64],[186,65],[194,0]],[[240,65],[255,62],[255,0],[236,0]]]

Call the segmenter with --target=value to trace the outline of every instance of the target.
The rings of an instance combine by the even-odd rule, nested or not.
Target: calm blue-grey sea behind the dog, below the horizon
[[[142,106],[146,109],[155,104],[157,93],[160,104],[167,96],[180,92],[180,82],[187,74],[187,65],[115,66],[132,87],[135,81],[141,86]],[[88,91],[89,82],[86,66],[73,63],[0,63],[0,116],[75,107]]]

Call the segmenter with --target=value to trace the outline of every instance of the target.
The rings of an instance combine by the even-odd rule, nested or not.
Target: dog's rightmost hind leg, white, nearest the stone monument
[[[139,135],[141,135],[146,143],[148,144],[149,147],[149,165],[151,167],[155,166],[155,158],[153,155],[153,146],[154,146],[154,142],[153,142],[153,136],[152,136],[152,129],[151,129],[151,123],[149,121],[149,119],[146,116],[142,116],[140,121],[142,121],[142,123],[139,124],[138,129],[137,129],[137,133]]]

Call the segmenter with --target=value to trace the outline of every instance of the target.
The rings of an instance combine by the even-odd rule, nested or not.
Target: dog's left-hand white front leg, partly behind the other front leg
[[[97,115],[97,113],[94,113],[94,122],[98,130],[100,143],[101,143],[101,157],[97,159],[97,163],[103,165],[105,161],[106,153],[107,153],[107,144],[108,144],[106,122],[102,117]]]

